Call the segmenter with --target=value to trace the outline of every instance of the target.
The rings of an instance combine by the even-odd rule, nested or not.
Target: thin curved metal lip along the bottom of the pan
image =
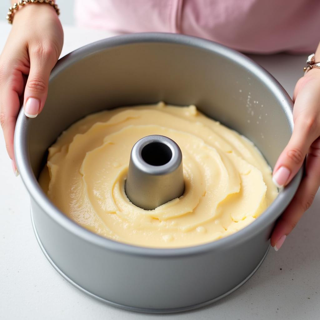
[[[82,292],[88,294],[89,296],[107,303],[110,306],[116,307],[116,308],[120,308],[120,309],[124,309],[124,310],[129,310],[129,311],[134,311],[134,312],[143,312],[143,313],[154,313],[154,314],[160,314],[160,313],[177,313],[177,312],[184,312],[184,311],[189,311],[189,310],[193,310],[193,309],[197,309],[197,308],[201,308],[204,306],[207,306],[213,302],[216,302],[224,297],[226,297],[227,295],[229,295],[230,293],[236,291],[238,288],[240,288],[243,284],[245,284],[252,276],[253,274],[259,269],[259,267],[261,266],[263,260],[266,258],[268,251],[270,249],[270,245],[268,246],[268,249],[266,250],[266,253],[264,254],[264,256],[262,257],[262,259],[260,260],[260,262],[258,263],[258,265],[253,269],[253,271],[249,274],[249,276],[247,276],[243,281],[241,281],[239,284],[237,284],[233,289],[229,290],[228,292],[220,295],[217,298],[214,298],[212,300],[208,300],[202,303],[198,303],[195,305],[191,305],[188,307],[183,307],[183,308],[173,308],[173,309],[144,309],[144,308],[135,308],[135,307],[130,307],[130,306],[125,306],[125,305],[121,305],[118,304],[116,302],[112,302],[103,298],[100,298],[99,296],[93,294],[92,292],[87,291],[86,289],[80,287],[78,284],[76,284],[73,280],[71,280],[66,274],[64,274],[58,267],[57,265],[52,261],[52,259],[50,258],[50,256],[48,255],[48,253],[45,251],[44,246],[41,243],[41,240],[38,236],[38,232],[36,230],[36,226],[34,223],[34,219],[33,219],[33,214],[32,214],[32,210],[31,211],[31,222],[32,222],[32,228],[33,231],[36,235],[36,239],[38,241],[38,244],[42,250],[42,252],[44,253],[44,256],[47,258],[47,260],[51,263],[52,267],[61,275],[63,276],[70,284],[74,285],[76,288],[78,288],[79,290],[81,290]]]

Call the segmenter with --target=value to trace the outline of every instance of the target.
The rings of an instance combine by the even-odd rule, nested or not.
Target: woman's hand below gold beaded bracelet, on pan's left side
[[[62,45],[62,26],[51,5],[27,4],[15,13],[0,56],[0,123],[16,174],[13,136],[20,105],[30,118],[41,112]]]

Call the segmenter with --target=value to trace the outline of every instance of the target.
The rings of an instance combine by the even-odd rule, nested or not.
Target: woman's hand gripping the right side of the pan
[[[294,130],[275,165],[273,179],[278,186],[287,185],[307,156],[306,170],[297,193],[272,233],[271,245],[276,251],[310,207],[320,185],[320,69],[313,68],[300,78],[293,101]]]

